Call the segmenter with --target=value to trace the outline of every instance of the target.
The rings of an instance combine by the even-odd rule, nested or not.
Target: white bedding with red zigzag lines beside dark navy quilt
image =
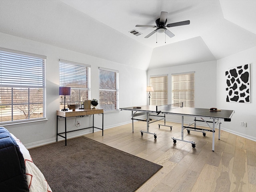
[[[30,192],[52,192],[46,179],[38,167],[33,163],[29,151],[25,148],[22,142],[16,138],[13,134],[12,137],[16,140],[20,151],[23,154],[26,165],[26,178],[28,182],[28,188]]]

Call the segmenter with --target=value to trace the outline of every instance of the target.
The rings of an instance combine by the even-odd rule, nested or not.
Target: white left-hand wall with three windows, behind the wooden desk
[[[56,46],[11,36],[0,33],[0,46],[23,52],[41,54],[46,59],[46,122],[26,123],[5,126],[11,133],[18,137],[26,147],[33,147],[54,142],[56,140],[56,110],[59,109],[59,59],[70,60],[91,65],[91,98],[99,99],[98,67],[119,70],[119,106],[135,106],[146,104],[146,71],[129,67],[124,64],[96,58],[86,54],[66,50]],[[96,126],[101,127],[102,117],[98,115]],[[68,120],[68,130],[74,130],[75,118]],[[81,127],[90,124],[91,118],[83,118]],[[130,113],[119,111],[104,114],[104,128],[114,127],[131,122]],[[64,130],[64,121],[60,120],[59,127]],[[92,132],[84,130],[72,132],[69,136],[77,136]]]

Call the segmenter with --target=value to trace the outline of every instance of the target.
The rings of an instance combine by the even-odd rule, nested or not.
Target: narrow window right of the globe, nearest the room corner
[[[104,111],[118,110],[118,74],[116,70],[99,68],[100,108]]]

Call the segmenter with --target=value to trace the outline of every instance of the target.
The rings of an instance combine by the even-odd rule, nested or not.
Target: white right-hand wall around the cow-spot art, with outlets
[[[256,141],[256,47],[239,52],[217,61],[217,108],[235,110],[231,122],[223,122],[222,127],[228,132]],[[250,64],[251,103],[226,102],[226,77],[229,68]],[[240,121],[247,122],[247,127],[240,126]]]

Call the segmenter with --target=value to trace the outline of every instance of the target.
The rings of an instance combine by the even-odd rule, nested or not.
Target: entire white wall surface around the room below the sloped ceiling
[[[171,102],[171,74],[180,72],[195,71],[195,107],[210,108],[217,107],[220,109],[235,110],[231,122],[222,122],[222,128],[228,132],[256,140],[256,129],[253,120],[255,114],[255,74],[256,69],[256,48],[252,48],[238,54],[223,58],[218,61],[202,62],[182,66],[172,66],[158,68],[154,70],[139,70],[124,64],[96,58],[79,52],[74,52],[0,33],[0,46],[34,54],[47,56],[46,60],[46,118],[44,123],[28,123],[22,125],[6,126],[10,132],[16,135],[27,147],[37,146],[54,142],[56,140],[56,110],[59,108],[59,63],[58,60],[70,60],[91,65],[91,98],[98,96],[98,67],[112,68],[119,70],[119,106],[137,106],[147,103],[146,86],[149,85],[149,78],[152,75],[168,74],[168,103]],[[226,102],[225,91],[225,71],[228,68],[251,64],[251,103],[232,103]],[[101,126],[101,117],[97,117],[96,126]],[[180,117],[168,116],[167,120],[180,122]],[[185,119],[186,121],[186,119]],[[247,127],[240,126],[240,121],[247,122]],[[86,126],[91,122],[90,118],[81,120],[81,126]],[[104,128],[118,126],[130,122],[130,112],[120,111],[115,113],[104,114]],[[60,120],[60,127],[63,128],[63,120]],[[69,120],[69,129],[74,129],[74,118]],[[76,134],[92,132],[84,130],[82,133],[74,132],[70,137]]]

